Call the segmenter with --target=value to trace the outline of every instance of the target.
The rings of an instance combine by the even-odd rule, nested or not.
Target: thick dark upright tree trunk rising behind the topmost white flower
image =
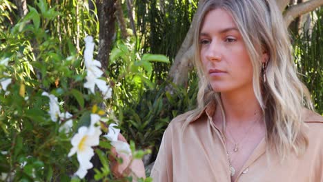
[[[99,17],[99,52],[97,60],[106,70],[113,39],[115,38],[115,3],[117,0],[97,0],[97,13]]]

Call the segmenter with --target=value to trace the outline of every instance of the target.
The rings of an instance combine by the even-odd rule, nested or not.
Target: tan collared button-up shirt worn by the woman
[[[214,105],[208,105],[182,133],[187,114],[173,119],[164,132],[151,172],[153,181],[229,182],[229,163],[222,135],[212,121]],[[304,109],[309,147],[302,156],[293,152],[281,162],[266,155],[266,140],[255,148],[235,181],[323,182],[323,117]]]

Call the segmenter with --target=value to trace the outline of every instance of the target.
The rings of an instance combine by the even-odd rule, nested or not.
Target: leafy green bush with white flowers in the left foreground
[[[113,181],[108,158],[112,146],[134,159],[147,153],[136,151],[133,142],[116,140],[116,125],[127,122],[114,116],[122,81],[135,78],[135,83],[153,86],[146,76],[151,61],[168,59],[128,50],[130,57],[122,56],[124,70],[108,78],[93,59],[95,39],[85,37],[83,56],[73,43],[61,46],[47,30],[60,13],[46,1],[37,1],[37,6],[10,32],[0,33],[1,181]],[[127,52],[126,45],[119,43],[115,52]]]

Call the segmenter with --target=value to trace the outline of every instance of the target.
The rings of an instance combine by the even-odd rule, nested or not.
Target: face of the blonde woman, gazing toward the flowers
[[[253,88],[253,66],[230,13],[215,9],[206,14],[199,46],[204,74],[215,92]]]

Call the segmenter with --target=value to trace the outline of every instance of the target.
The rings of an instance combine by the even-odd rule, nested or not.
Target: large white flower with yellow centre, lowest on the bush
[[[93,133],[90,133],[90,130],[94,129]],[[99,127],[90,127],[82,126],[79,128],[77,134],[72,137],[70,141],[72,143],[72,148],[68,156],[72,156],[77,153],[77,161],[79,161],[79,170],[75,172],[79,178],[83,179],[88,172],[88,169],[92,168],[93,165],[90,162],[90,159],[94,155],[92,146],[99,145],[99,136],[101,135],[101,130]]]

